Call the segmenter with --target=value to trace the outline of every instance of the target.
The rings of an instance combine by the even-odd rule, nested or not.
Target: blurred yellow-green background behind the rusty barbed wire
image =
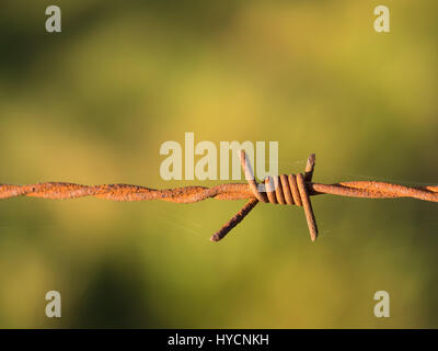
[[[285,173],[315,152],[316,182],[436,183],[437,15],[433,0],[2,0],[0,183],[218,183],[160,178],[160,145],[185,132],[277,140]],[[435,203],[314,197],[315,244],[301,208],[260,205],[211,244],[242,204],[0,201],[0,327],[438,327]]]

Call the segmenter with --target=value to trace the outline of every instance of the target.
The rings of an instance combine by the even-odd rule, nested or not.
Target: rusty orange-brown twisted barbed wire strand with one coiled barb
[[[45,182],[30,185],[0,184],[0,199],[30,196],[64,200],[94,196],[128,202],[161,200],[178,204],[195,203],[207,199],[249,200],[229,222],[211,236],[211,241],[221,240],[260,202],[302,206],[312,241],[318,237],[318,226],[310,196],[332,194],[366,199],[413,197],[438,202],[438,185],[415,188],[378,181],[349,181],[334,184],[314,183],[312,182],[315,166],[314,154],[309,157],[304,173],[267,177],[264,183],[257,184],[245,152],[241,151],[240,156],[247,183],[228,183],[212,188],[184,186],[164,190],[129,184],[82,185],[66,182]]]

